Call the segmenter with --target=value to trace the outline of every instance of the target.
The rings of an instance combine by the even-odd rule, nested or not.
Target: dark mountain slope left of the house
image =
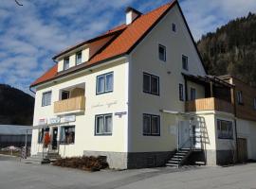
[[[32,96],[0,84],[0,124],[32,125],[33,110]]]

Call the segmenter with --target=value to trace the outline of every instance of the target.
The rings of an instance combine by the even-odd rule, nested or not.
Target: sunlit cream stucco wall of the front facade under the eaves
[[[61,155],[81,156],[83,150],[93,151],[127,151],[127,116],[119,117],[115,112],[128,112],[128,62],[119,60],[108,65],[103,65],[92,72],[84,72],[76,77],[71,77],[57,82],[54,85],[47,85],[37,88],[35,97],[34,125],[38,125],[39,119],[56,117],[53,112],[53,103],[59,100],[60,90],[84,84],[85,87],[85,113],[76,115],[75,125],[75,144],[61,146]],[[101,74],[114,72],[114,92],[96,95],[96,78]],[[42,94],[51,91],[51,105],[42,107]],[[95,136],[95,115],[103,113],[113,113],[113,131],[111,136]],[[60,133],[60,129],[59,129]],[[38,130],[33,131],[32,154],[38,148]],[[34,146],[33,146],[34,145]]]

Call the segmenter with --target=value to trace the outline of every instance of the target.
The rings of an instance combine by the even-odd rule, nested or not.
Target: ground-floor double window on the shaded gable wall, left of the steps
[[[160,116],[153,114],[143,114],[143,135],[160,135]]]

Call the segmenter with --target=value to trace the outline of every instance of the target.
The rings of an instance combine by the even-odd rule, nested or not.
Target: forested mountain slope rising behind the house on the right
[[[210,75],[231,74],[256,86],[256,14],[202,36],[197,46]]]

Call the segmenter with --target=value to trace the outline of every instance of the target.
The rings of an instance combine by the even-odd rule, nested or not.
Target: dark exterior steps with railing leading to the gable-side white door
[[[174,156],[165,164],[167,167],[179,167],[187,158],[191,155],[192,149],[191,148],[181,148],[178,149]]]

